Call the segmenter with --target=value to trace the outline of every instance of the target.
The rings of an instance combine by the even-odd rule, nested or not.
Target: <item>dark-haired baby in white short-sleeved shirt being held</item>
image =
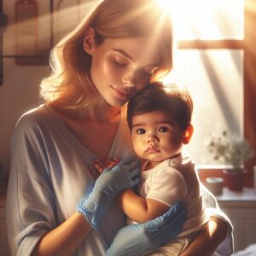
[[[179,255],[207,224],[195,164],[182,151],[194,130],[192,110],[188,90],[160,83],[149,84],[128,103],[131,141],[143,168],[137,191],[126,189],[119,195],[127,224],[156,218],[177,201],[188,210],[177,239],[148,255]]]

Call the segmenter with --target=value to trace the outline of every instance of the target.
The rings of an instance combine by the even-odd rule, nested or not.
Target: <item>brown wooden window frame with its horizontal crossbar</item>
[[[221,40],[180,40],[177,49],[242,49],[243,59],[243,136],[253,148],[255,155],[247,160],[245,167],[247,176],[245,185],[253,186],[253,166],[256,166],[256,36],[251,31],[256,31],[256,0],[244,0],[244,38]],[[201,180],[206,177],[221,174],[222,167],[209,166],[200,169]]]

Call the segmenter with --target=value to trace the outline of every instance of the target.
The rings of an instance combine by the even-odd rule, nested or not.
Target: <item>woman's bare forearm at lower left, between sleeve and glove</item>
[[[46,233],[32,252],[38,255],[71,255],[89,234],[88,221],[79,212],[75,212],[64,223]]]

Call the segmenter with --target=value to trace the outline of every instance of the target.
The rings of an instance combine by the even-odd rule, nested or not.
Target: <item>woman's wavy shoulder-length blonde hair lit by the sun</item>
[[[97,45],[105,38],[154,37],[162,57],[152,80],[171,71],[172,26],[169,15],[163,13],[157,0],[104,0],[97,3],[79,26],[52,50],[52,73],[40,84],[41,96],[46,102],[59,99],[64,108],[86,108],[96,102],[98,93],[90,79],[91,55],[84,51],[83,45],[89,27],[96,32]]]

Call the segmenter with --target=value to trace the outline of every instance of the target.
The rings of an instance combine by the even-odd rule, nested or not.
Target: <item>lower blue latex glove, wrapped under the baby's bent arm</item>
[[[154,251],[181,233],[186,215],[183,203],[178,202],[158,218],[125,226],[114,237],[105,255],[138,256]]]

